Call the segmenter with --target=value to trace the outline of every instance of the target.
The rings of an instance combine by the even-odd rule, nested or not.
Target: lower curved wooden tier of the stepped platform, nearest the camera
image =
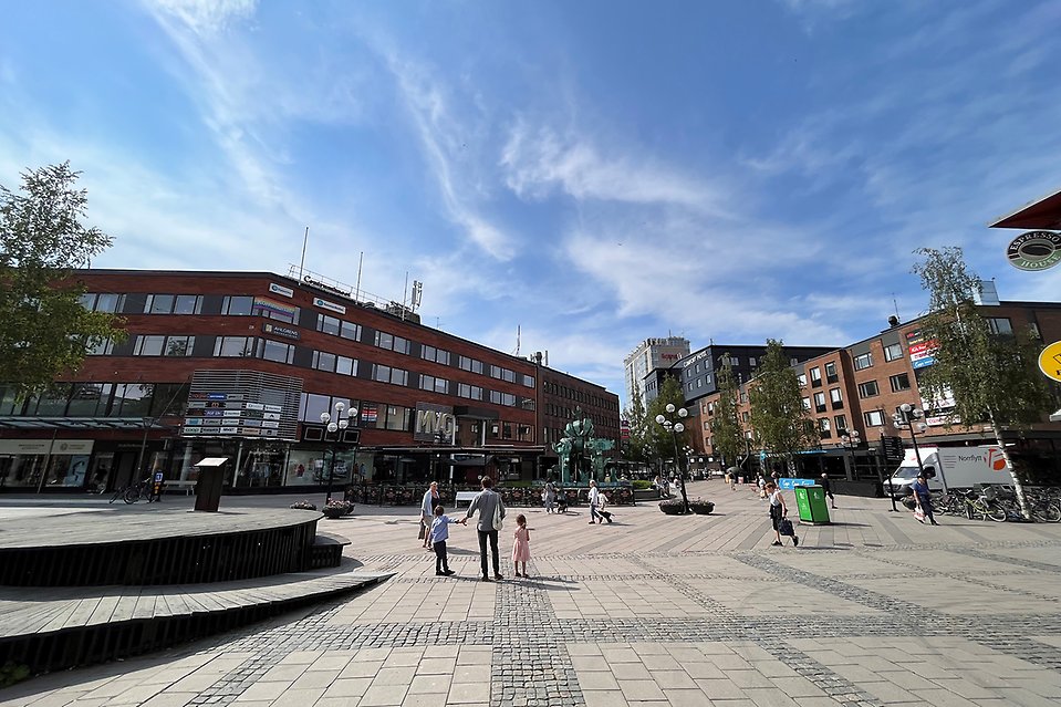
[[[372,586],[391,573],[340,568],[209,585],[0,588],[0,664],[37,673],[110,661],[230,630]]]

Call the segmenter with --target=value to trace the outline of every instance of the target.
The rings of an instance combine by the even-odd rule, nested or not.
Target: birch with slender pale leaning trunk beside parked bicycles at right
[[[928,291],[928,313],[920,332],[930,343],[933,365],[918,380],[922,397],[954,399],[945,413],[951,423],[970,428],[988,424],[1002,450],[1020,501],[1030,518],[1028,501],[1002,439],[1002,426],[1021,427],[1041,422],[1052,406],[1046,378],[1038,370],[1040,345],[1028,327],[1011,334],[991,331],[977,311],[975,295],[980,279],[965,263],[960,248],[916,251],[924,260],[914,266]]]

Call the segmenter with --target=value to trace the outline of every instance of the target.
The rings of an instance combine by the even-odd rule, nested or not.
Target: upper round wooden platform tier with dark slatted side
[[[339,564],[316,542],[316,511],[158,506],[0,520],[0,585],[160,585],[267,576]]]

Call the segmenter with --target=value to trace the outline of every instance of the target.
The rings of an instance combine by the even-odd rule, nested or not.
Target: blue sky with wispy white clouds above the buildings
[[[287,272],[616,393],[648,336],[842,345],[1061,187],[1061,3],[53,0],[0,23],[0,184],[69,159],[94,264]]]

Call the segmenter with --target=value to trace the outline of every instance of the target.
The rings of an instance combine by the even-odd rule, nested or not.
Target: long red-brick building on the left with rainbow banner
[[[583,409],[618,436],[617,397],[600,386],[334,283],[268,272],[75,278],[84,306],[121,316],[128,336],[102,343],[45,394],[0,394],[8,489],[114,489],[146,474],[190,484],[204,457],[228,459],[233,490],[538,478],[558,424],[542,414],[558,395],[545,378],[590,399]],[[329,430],[322,413],[349,426]]]

